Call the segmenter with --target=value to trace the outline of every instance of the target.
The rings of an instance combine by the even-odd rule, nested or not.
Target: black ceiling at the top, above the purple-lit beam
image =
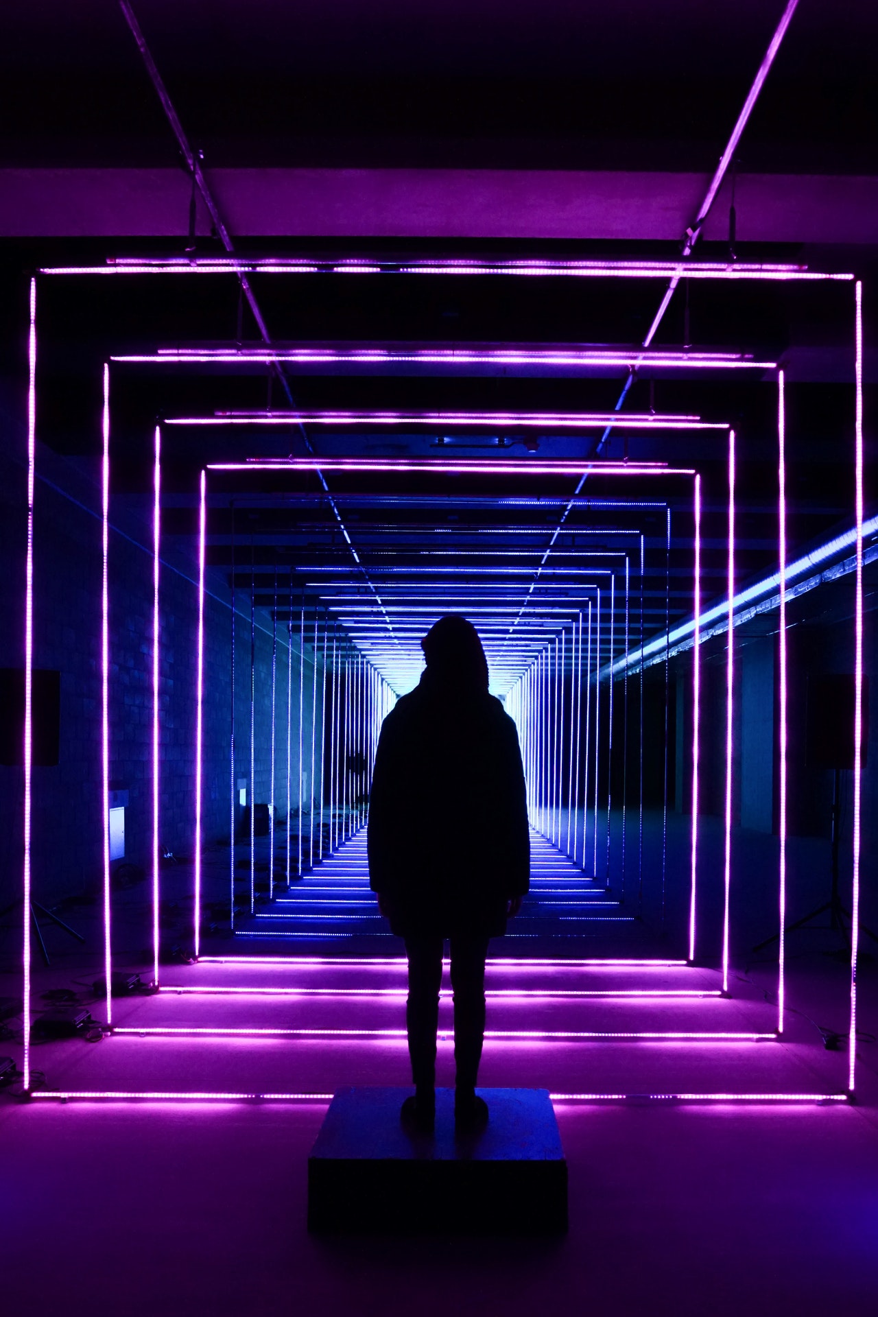
[[[779,0],[137,0],[213,166],[710,170]],[[175,146],[116,0],[7,5],[4,165]],[[878,8],[802,0],[741,169],[878,166]]]

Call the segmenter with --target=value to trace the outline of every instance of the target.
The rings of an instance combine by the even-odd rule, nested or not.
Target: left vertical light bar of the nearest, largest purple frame
[[[24,864],[21,873],[22,921],[21,986],[25,1092],[30,1089],[30,815],[33,774],[33,497],[37,461],[37,281],[30,281],[28,331],[28,548],[25,558],[25,727],[24,727]]]

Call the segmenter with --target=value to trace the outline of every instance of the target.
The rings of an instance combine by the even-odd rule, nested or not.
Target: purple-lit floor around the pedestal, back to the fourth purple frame
[[[65,954],[51,971],[38,972],[39,992],[93,977],[76,948],[67,954],[62,935],[53,954],[55,946]],[[846,1030],[846,969],[827,955],[820,935],[796,935],[788,950],[783,1042],[495,1036],[486,1043],[482,1080],[555,1093],[842,1089],[844,1052],[823,1047],[820,1027]],[[769,959],[741,963],[731,1000],[491,998],[488,1027],[770,1031],[775,972]],[[399,1033],[350,1033],[400,1030],[401,967],[201,963],[168,965],[165,976],[168,992],[118,1002],[116,1023],[132,1034],[34,1047],[34,1067],[53,1087],[71,1089],[332,1092],[350,1083],[407,1081]],[[488,972],[490,989],[544,993],[712,992],[716,984],[715,969],[688,967],[500,964]],[[229,985],[367,992],[175,990]],[[9,988],[0,984],[0,994],[12,990],[12,980]],[[307,1155],[324,1102],[61,1104],[21,1102],[7,1092],[0,1097],[3,1295],[11,1309],[26,1304],[70,1317],[534,1310],[874,1317],[878,975],[867,960],[860,1023],[854,1105],[558,1100],[570,1233],[557,1241],[309,1235]],[[186,1025],[317,1033],[141,1036]],[[338,1029],[348,1033],[333,1033]],[[446,1030],[441,1083],[450,1080],[450,1048]],[[0,1043],[7,1050],[16,1051],[14,1039]]]

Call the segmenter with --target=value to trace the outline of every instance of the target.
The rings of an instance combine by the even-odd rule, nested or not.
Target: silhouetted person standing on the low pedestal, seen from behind
[[[421,641],[426,669],[384,719],[369,805],[369,874],[391,930],[405,939],[405,1025],[415,1097],[403,1121],[430,1130],[436,1029],[448,938],[454,993],[454,1118],[479,1126],[484,957],[530,878],[519,736],[488,694],[475,628],[441,618]]]

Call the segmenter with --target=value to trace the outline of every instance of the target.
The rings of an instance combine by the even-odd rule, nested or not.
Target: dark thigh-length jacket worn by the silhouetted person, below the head
[[[394,932],[505,931],[530,842],[519,736],[499,699],[425,669],[382,724],[367,836]]]

